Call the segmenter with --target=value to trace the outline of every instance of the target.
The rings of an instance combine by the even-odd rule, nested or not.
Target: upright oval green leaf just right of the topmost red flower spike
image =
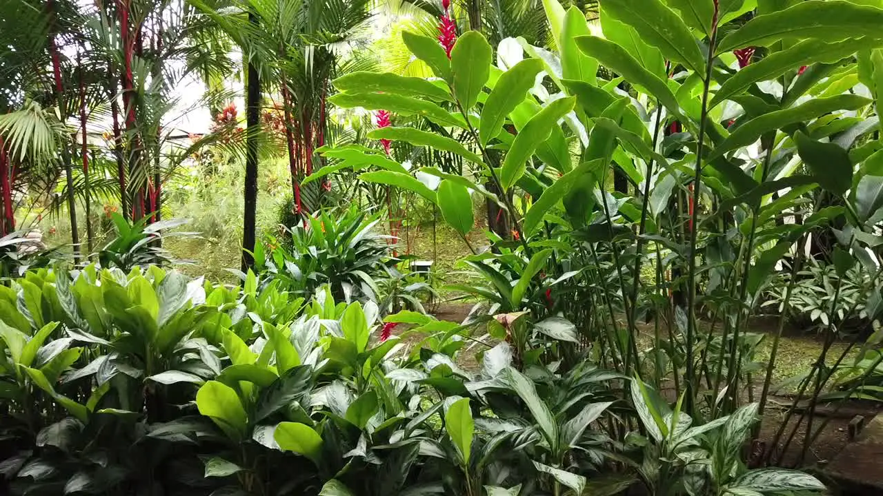
[[[494,50],[483,34],[467,31],[457,39],[450,52],[450,69],[454,78],[454,94],[468,112],[479,100],[481,89],[490,76]]]

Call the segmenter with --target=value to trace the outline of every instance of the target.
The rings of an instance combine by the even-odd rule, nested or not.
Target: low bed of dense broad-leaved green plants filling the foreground
[[[680,402],[672,410],[633,380],[636,412],[619,397],[628,378],[587,362],[520,369],[507,342],[469,372],[467,327],[400,312],[378,336],[376,304],[280,285],[89,266],[0,289],[4,491],[823,489],[799,472],[744,469],[756,405],[692,425]],[[392,326],[410,328],[386,335]],[[423,339],[402,346],[411,335]],[[621,437],[635,419],[647,435]]]

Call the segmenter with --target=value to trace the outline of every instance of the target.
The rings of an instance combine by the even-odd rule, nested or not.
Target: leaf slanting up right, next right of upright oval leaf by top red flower
[[[497,79],[494,91],[487,97],[481,109],[479,121],[479,141],[487,145],[496,136],[506,116],[514,110],[518,103],[527,97],[527,91],[533,87],[537,74],[542,71],[543,63],[539,58],[527,58],[505,71]]]

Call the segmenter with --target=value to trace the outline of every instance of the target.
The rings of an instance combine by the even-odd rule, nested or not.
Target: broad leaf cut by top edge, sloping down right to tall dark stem
[[[705,58],[699,50],[696,38],[683,24],[681,17],[660,0],[643,0],[640,5],[630,0],[604,0],[603,4],[604,11],[616,20],[634,27],[642,40],[660,49],[668,60],[683,64],[705,76]],[[586,53],[591,55],[591,52]],[[604,64],[603,61],[600,62]],[[654,95],[659,96],[655,93]]]

